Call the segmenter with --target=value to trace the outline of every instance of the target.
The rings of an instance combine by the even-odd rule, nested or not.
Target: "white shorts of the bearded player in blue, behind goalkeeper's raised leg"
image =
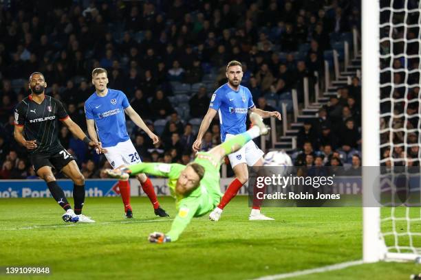
[[[225,140],[235,135],[227,134]],[[237,152],[228,154],[228,159],[230,159],[231,167],[239,163],[247,163],[248,166],[253,166],[259,159],[263,157],[264,152],[257,147],[254,141],[250,140]]]

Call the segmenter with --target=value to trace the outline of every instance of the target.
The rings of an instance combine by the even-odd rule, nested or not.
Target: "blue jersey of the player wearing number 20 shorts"
[[[129,106],[126,95],[115,89],[108,89],[104,97],[94,93],[86,100],[86,118],[94,119],[102,147],[114,147],[130,139],[125,117],[125,108]]]

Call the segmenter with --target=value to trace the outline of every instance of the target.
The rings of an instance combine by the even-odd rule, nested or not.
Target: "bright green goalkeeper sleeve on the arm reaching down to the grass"
[[[166,233],[171,238],[171,242],[177,241],[184,229],[190,224],[191,219],[199,208],[197,198],[184,198],[180,201],[180,208],[171,224],[171,230]]]

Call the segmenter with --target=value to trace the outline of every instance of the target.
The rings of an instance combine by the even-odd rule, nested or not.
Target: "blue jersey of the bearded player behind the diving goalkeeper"
[[[213,93],[209,108],[219,113],[222,141],[225,141],[227,133],[237,135],[246,132],[248,109],[254,106],[252,95],[246,86],[239,86],[238,91],[234,91],[228,84],[224,84]]]

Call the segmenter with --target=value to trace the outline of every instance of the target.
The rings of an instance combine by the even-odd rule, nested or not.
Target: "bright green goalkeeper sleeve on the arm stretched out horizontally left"
[[[129,170],[132,175],[146,173],[153,176],[175,179],[180,176],[180,172],[185,167],[185,165],[179,163],[137,163],[129,165]]]

